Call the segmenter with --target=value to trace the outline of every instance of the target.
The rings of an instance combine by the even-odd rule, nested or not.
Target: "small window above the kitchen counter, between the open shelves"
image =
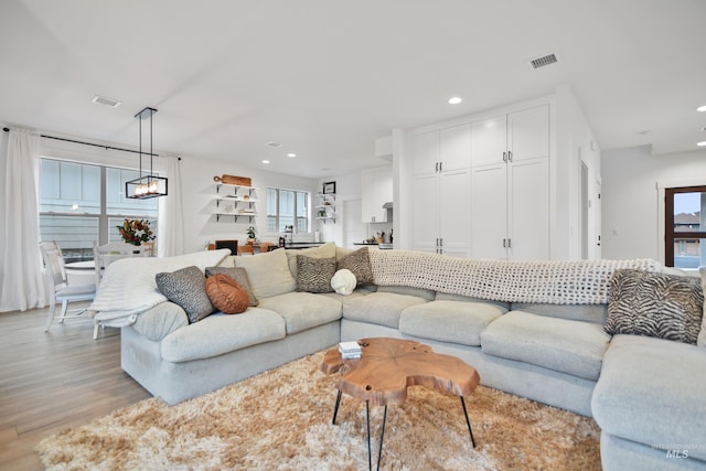
[[[295,232],[309,232],[309,193],[295,190],[267,189],[267,231],[285,232],[295,226]]]

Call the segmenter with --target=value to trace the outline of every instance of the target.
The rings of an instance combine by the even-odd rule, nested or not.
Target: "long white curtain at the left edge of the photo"
[[[0,311],[46,304],[38,205],[40,133],[10,128],[4,182]]]

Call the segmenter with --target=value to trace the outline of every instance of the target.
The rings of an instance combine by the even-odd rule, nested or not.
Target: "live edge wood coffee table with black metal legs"
[[[456,356],[435,353],[429,345],[400,339],[362,339],[363,354],[359,360],[342,360],[338,345],[325,353],[321,371],[325,374],[343,373],[336,382],[339,393],[333,409],[333,420],[339,413],[341,394],[365,400],[367,420],[367,464],[373,468],[371,457],[370,406],[385,406],[383,430],[377,453],[377,469],[383,456],[385,421],[388,405],[402,405],[407,399],[408,386],[426,386],[461,398],[466,424],[475,448],[471,422],[468,419],[463,396],[470,395],[480,383],[475,368]]]

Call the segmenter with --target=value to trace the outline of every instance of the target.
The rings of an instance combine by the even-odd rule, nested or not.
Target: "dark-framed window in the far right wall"
[[[706,239],[706,186],[683,186],[664,190],[665,240],[664,265],[676,268],[698,268],[706,265],[703,253]]]

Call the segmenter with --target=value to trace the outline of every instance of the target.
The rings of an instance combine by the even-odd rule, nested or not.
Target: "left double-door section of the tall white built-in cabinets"
[[[469,124],[411,138],[415,250],[470,255],[470,151]]]

